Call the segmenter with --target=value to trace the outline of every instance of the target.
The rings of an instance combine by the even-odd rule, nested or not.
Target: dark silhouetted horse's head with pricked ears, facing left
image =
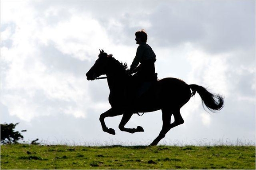
[[[95,80],[96,77],[99,77],[107,73],[107,61],[111,54],[106,54],[103,50],[99,50],[98,59],[91,69],[86,73],[87,80]]]

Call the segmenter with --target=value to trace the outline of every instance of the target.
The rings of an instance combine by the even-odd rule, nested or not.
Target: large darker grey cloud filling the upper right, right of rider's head
[[[162,4],[151,15],[159,46],[193,42],[211,53],[255,45],[254,1],[180,1]]]

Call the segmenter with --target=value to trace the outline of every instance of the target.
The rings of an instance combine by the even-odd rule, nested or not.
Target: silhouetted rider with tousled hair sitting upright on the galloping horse
[[[150,87],[152,81],[157,80],[154,65],[156,54],[146,43],[147,38],[148,36],[144,29],[135,33],[136,44],[139,44],[139,46],[137,48],[136,56],[130,66],[130,73],[135,73],[132,79],[135,81],[136,85],[140,87],[138,96],[141,96],[142,93]]]

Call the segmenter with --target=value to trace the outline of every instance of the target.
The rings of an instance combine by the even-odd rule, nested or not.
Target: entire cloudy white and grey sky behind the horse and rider
[[[0,2],[1,124],[20,124],[25,141],[77,145],[147,145],[161,130],[161,111],[98,120],[110,108],[106,80],[85,73],[105,50],[130,66],[142,28],[157,55],[158,77],[178,77],[225,97],[205,112],[197,94],[181,108],[185,123],[160,144],[255,142],[255,0]]]

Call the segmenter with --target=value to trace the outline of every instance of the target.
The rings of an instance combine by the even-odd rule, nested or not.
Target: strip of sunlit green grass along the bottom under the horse
[[[1,145],[1,169],[255,169],[254,146]]]

